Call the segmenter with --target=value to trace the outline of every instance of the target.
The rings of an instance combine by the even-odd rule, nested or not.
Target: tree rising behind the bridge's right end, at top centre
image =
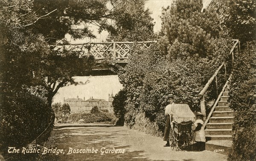
[[[110,41],[150,41],[155,39],[154,23],[148,9],[145,9],[146,0],[117,0],[114,14],[114,27],[117,32],[110,33]]]

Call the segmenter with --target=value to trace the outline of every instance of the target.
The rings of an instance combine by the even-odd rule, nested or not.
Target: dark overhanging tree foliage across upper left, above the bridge
[[[73,76],[84,75],[90,70],[93,59],[49,45],[55,46],[59,40],[67,43],[64,41],[66,34],[73,39],[95,37],[90,25],[98,26],[99,32],[105,29],[113,35],[127,30],[128,35],[134,33],[127,39],[127,35],[119,34],[122,35],[119,40],[135,40],[134,37],[143,40],[145,33],[153,33],[153,23],[148,10],[144,11],[144,3],[141,0],[135,6],[131,4],[131,10],[126,11],[122,0],[2,1],[0,27],[4,71],[1,80],[11,79],[15,82],[11,84],[17,87],[21,84],[44,86],[50,106],[58,89],[75,83]],[[136,30],[140,29],[145,33],[138,35]]]

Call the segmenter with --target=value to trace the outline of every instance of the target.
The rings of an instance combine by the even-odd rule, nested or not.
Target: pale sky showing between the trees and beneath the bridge
[[[203,4],[205,8],[211,0],[203,0]],[[172,0],[148,0],[145,3],[145,9],[148,8],[151,11],[151,17],[154,19],[155,26],[154,32],[159,32],[161,29],[161,19],[160,15],[162,12],[162,7],[167,7],[172,5]],[[66,36],[67,40],[71,43],[88,43],[91,42],[103,42],[106,40],[108,36],[108,32],[103,31],[101,34],[97,32],[97,28],[92,26],[91,29],[94,31],[93,33],[96,35],[96,39],[90,40],[85,38],[83,40],[72,40],[69,35]],[[58,90],[58,93],[55,95],[53,102],[63,103],[64,98],[84,98],[85,100],[89,99],[93,96],[93,98],[101,98],[108,101],[108,94],[111,94],[113,91],[113,95],[116,95],[117,92],[122,89],[122,84],[119,82],[117,75],[109,75],[109,76],[93,76],[93,77],[74,77],[75,81],[85,82],[89,79],[89,83],[85,85],[70,85],[62,87]]]

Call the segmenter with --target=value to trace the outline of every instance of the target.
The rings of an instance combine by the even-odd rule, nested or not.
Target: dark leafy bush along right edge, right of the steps
[[[248,43],[234,64],[230,107],[234,110],[233,147],[229,160],[256,158],[256,41]]]

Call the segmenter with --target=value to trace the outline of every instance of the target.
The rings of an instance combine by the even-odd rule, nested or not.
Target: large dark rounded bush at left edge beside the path
[[[47,129],[39,138],[44,141],[52,130],[54,112],[46,99],[23,89],[1,95],[0,118],[1,150],[7,152],[7,147],[25,146]]]

